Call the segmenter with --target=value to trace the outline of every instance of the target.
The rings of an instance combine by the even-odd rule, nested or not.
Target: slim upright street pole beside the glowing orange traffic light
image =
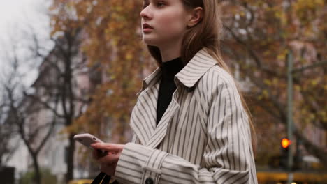
[[[291,50],[287,54],[287,137],[293,142],[293,54]],[[292,145],[292,144],[291,144]],[[287,183],[291,184],[293,181],[293,154],[292,146],[289,147],[287,167],[288,177]]]

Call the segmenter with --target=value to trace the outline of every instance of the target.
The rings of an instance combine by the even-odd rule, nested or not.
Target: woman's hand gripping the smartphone
[[[93,158],[101,164],[101,172],[109,176],[114,176],[119,156],[122,153],[124,144],[108,144],[94,143],[91,144],[93,150]],[[101,153],[103,150],[106,154]]]

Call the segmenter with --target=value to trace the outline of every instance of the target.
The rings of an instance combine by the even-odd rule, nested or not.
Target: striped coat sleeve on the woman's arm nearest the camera
[[[257,183],[247,114],[234,85],[212,94],[203,167],[157,149],[129,143],[115,172],[119,183]]]

